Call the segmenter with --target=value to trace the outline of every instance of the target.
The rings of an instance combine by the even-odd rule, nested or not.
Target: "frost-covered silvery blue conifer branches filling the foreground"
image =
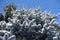
[[[0,40],[60,40],[58,15],[40,8],[11,10],[8,22],[0,21]]]

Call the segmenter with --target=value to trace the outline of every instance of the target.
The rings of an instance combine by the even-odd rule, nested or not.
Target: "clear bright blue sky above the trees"
[[[60,12],[60,0],[0,0],[0,12],[5,15],[3,7],[10,3],[14,3],[17,9],[22,8],[36,8],[40,7],[42,11],[48,10],[52,14],[57,14]],[[57,20],[60,23],[60,15]]]

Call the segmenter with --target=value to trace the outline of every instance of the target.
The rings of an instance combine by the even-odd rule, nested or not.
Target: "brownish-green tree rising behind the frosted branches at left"
[[[16,10],[16,6],[13,3],[11,3],[11,4],[4,7],[4,11],[6,12],[5,13],[5,21],[6,22],[8,22],[8,17],[11,18],[11,16],[12,16],[11,12],[13,10]]]

